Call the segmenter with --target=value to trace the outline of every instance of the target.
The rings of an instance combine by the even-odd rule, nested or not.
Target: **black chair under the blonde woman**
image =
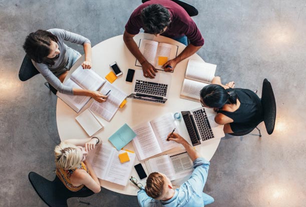
[[[78,202],[90,205],[80,201],[80,197],[89,197],[94,194],[86,187],[78,192],[69,191],[57,176],[53,181],[49,181],[35,172],[30,172],[29,180],[36,193],[49,207],[68,207],[67,199],[76,197]]]

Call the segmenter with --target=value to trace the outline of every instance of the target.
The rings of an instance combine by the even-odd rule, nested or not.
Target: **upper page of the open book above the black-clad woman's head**
[[[185,77],[204,83],[211,83],[217,65],[189,59]]]

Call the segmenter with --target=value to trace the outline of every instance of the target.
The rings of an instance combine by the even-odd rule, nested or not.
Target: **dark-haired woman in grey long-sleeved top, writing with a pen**
[[[23,47],[37,70],[60,93],[90,96],[96,101],[105,101],[107,96],[100,91],[73,88],[63,84],[68,71],[81,56],[78,51],[68,47],[64,40],[83,45],[85,61],[81,65],[84,69],[90,69],[92,66],[90,40],[64,29],[40,29],[32,32],[27,36]]]

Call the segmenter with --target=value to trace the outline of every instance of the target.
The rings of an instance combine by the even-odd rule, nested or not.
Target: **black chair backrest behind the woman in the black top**
[[[261,105],[265,128],[268,134],[272,134],[276,119],[276,101],[271,83],[267,79],[262,82]]]

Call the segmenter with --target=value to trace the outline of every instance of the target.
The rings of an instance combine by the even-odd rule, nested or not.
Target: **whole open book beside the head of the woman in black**
[[[200,102],[201,89],[210,84],[217,65],[189,59],[180,97]]]

